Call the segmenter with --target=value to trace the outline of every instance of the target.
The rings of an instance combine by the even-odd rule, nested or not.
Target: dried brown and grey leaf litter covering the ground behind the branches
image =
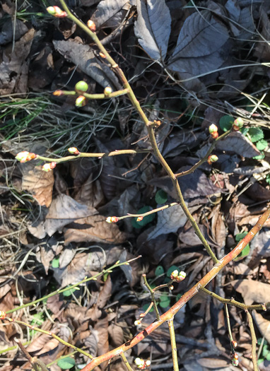
[[[144,109],[148,117],[162,121],[156,131],[158,146],[175,173],[189,170],[206,154],[211,146],[208,126],[212,122],[219,126],[222,117],[232,114],[228,107],[235,110],[242,107],[240,112],[245,112],[248,128],[260,123],[264,126],[263,120],[269,118],[268,101],[262,107],[248,107],[252,89],[263,86],[267,93],[264,84],[269,72],[259,63],[269,61],[269,45],[265,42],[269,34],[266,19],[269,5],[260,0],[223,3],[207,1],[195,6],[192,2],[192,6],[183,8],[178,1],[83,0],[74,9],[83,19],[91,15],[101,40],[121,30],[106,45],[127,73],[138,99],[146,102]],[[73,90],[78,80],[88,81],[93,89],[91,93],[101,93],[106,86],[114,90],[122,88],[95,45],[71,23],[59,20],[52,23],[54,32],[46,33],[43,30],[47,29],[47,20],[39,20],[38,29],[37,18],[33,16],[28,22],[16,20],[13,35],[14,11],[6,3],[1,8],[2,95],[50,93],[62,86]],[[127,27],[121,28],[122,25]],[[240,90],[245,95],[241,96]],[[254,98],[259,100],[261,96],[254,93]],[[12,103],[13,98],[8,99]],[[61,105],[62,112],[74,111],[72,100],[55,102]],[[80,135],[80,143],[84,139],[88,143],[83,151],[149,148],[145,128],[127,100],[117,98],[112,105],[93,102],[91,110],[87,107],[74,111],[74,117],[76,114],[81,114],[82,120],[87,117],[83,135],[76,134],[72,119],[61,138],[56,141],[46,138],[44,155],[51,156],[58,146],[61,151],[66,150],[72,136],[76,146],[76,137]],[[102,110],[102,115],[98,116],[98,110]],[[122,118],[121,123],[118,117]],[[6,127],[18,126],[20,118],[17,111],[1,118],[0,134],[4,141],[1,164],[5,160],[13,161],[16,146],[23,145],[26,149],[28,136],[30,146],[36,141],[37,134],[33,136],[30,125],[21,127],[18,137],[4,137]],[[47,122],[40,122],[40,128],[46,125]],[[53,125],[57,126],[56,122]],[[221,127],[219,130],[221,134]],[[267,133],[262,132],[261,138],[266,143]],[[215,165],[204,164],[179,178],[192,216],[218,257],[235,247],[237,235],[256,223],[269,201],[267,175],[256,176],[260,172],[264,175],[269,167],[254,159],[263,154],[268,164],[269,156],[267,149],[258,148],[257,141],[245,132],[234,132],[218,142],[215,153],[219,159]],[[141,328],[134,326],[134,320],[150,303],[149,293],[141,285],[142,273],[154,285],[161,285],[173,266],[187,272],[187,279],[175,285],[174,290],[157,293],[162,313],[165,305],[173,305],[211,268],[210,259],[180,206],[165,209],[146,225],[136,225],[136,220],[131,218],[117,224],[105,222],[107,216],[138,213],[144,206],[149,210],[157,208],[160,204],[155,194],[160,190],[166,195],[166,203],[174,201],[170,179],[151,156],[140,153],[80,159],[59,164],[54,172],[48,173],[40,167],[40,163],[17,164],[13,171],[11,163],[1,165],[4,199],[1,201],[0,310],[11,310],[22,302],[78,283],[117,260],[125,261],[139,254],[142,258],[98,281],[79,285],[66,295],[55,295],[30,311],[15,312],[11,317],[18,316],[53,331],[75,346],[85,346],[95,357],[129,341],[136,331],[155,320],[150,313],[142,320]],[[269,301],[269,223],[250,244],[250,255],[226,266],[209,289],[250,305]],[[155,275],[158,267],[164,272],[160,276]],[[175,317],[176,338],[181,344],[181,370],[235,370],[229,358],[230,341],[223,307],[217,302],[210,303],[204,295],[196,295]],[[36,315],[38,323],[35,323]],[[270,342],[267,313],[252,315],[257,337],[264,336]],[[251,338],[245,313],[230,307],[230,321],[240,353],[242,350],[242,366],[252,370]],[[1,351],[14,345],[14,336],[23,341],[29,339],[25,329],[13,325],[1,324],[0,336]],[[129,362],[137,355],[147,359],[149,348],[153,369],[163,370],[164,362],[169,364],[171,360],[166,326],[129,351]],[[31,334],[28,351],[45,363],[69,353],[54,338],[38,333]],[[30,370],[31,365],[21,361],[22,356],[19,352],[4,355],[4,366],[9,370],[16,367]],[[76,355],[75,359],[77,365],[89,362],[84,355]],[[111,365],[113,370],[124,370],[122,361],[114,360]],[[105,367],[104,364],[97,370]],[[54,365],[51,369],[60,370],[60,367]]]

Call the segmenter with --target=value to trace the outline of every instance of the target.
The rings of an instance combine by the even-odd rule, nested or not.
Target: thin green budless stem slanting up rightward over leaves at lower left
[[[65,291],[67,291],[67,290],[71,290],[73,288],[76,288],[78,285],[81,285],[82,283],[86,283],[88,281],[96,281],[98,279],[98,277],[102,276],[105,273],[110,273],[110,271],[112,269],[117,268],[117,266],[129,265],[129,263],[131,261],[134,261],[134,260],[139,259],[139,258],[141,258],[141,255],[139,255],[139,257],[136,257],[134,259],[130,259],[128,261],[124,261],[124,263],[119,263],[119,261],[117,261],[113,266],[110,266],[110,268],[108,268],[108,269],[103,269],[102,272],[95,274],[95,276],[93,276],[93,277],[84,278],[82,281],[80,281],[78,283],[75,283],[74,285],[68,286],[66,288],[62,288],[61,290],[53,291],[52,293],[50,293],[48,295],[45,295],[45,296],[43,296],[40,299],[34,300],[33,302],[28,302],[27,304],[20,305],[20,307],[16,307],[16,308],[13,308],[12,310],[8,310],[6,312],[6,314],[9,314],[9,313],[12,313],[12,312],[16,312],[17,310],[21,310],[23,308],[30,307],[30,305],[35,305],[35,304],[37,304],[37,302],[42,302],[44,300],[47,300],[48,298],[52,298],[52,296],[54,296],[54,295],[61,294],[61,293],[64,293]]]

